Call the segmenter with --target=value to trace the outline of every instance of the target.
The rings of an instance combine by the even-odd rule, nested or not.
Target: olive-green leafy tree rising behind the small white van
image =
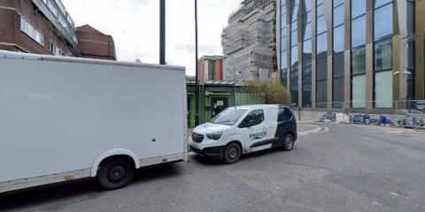
[[[290,91],[283,87],[281,83],[274,81],[253,80],[245,82],[246,87],[250,87],[254,92],[264,96],[267,104],[288,104],[292,103]]]

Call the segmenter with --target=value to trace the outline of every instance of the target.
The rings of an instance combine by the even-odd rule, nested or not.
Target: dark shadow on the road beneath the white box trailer
[[[178,166],[180,165],[173,163],[137,170],[135,178],[128,186],[136,186],[137,184],[147,183],[160,178],[171,178],[181,175],[182,169],[179,169]],[[84,196],[84,199],[96,199],[105,192],[98,186],[95,179],[42,186],[14,193],[1,194],[0,211],[35,208],[38,205],[49,204],[50,202],[73,200],[78,196]]]

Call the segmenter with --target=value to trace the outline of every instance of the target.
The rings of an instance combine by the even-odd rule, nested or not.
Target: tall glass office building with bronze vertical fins
[[[278,68],[304,108],[425,99],[425,2],[277,0]]]

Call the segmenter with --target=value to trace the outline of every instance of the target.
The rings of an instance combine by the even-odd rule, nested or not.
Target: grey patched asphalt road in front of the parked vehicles
[[[425,211],[425,133],[326,126],[290,152],[232,165],[191,155],[117,191],[54,186],[0,197],[0,211]]]

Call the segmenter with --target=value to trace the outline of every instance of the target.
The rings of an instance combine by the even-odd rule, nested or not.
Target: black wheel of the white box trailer
[[[135,176],[135,167],[122,158],[105,161],[97,172],[97,181],[107,190],[119,189]]]

